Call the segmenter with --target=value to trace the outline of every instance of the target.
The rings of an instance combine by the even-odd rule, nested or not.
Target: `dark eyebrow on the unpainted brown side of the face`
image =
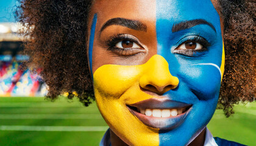
[[[108,26],[112,26],[112,25],[124,26],[124,27],[128,27],[129,29],[140,30],[140,31],[143,31],[143,32],[147,31],[147,26],[145,24],[141,23],[141,21],[132,20],[132,19],[125,19],[125,18],[112,18],[112,19],[109,19],[101,27],[100,33],[105,28],[107,28]]]

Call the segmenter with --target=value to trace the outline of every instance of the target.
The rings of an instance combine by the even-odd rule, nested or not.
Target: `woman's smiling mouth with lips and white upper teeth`
[[[192,105],[169,99],[148,99],[127,105],[130,113],[145,125],[172,130],[183,123]]]

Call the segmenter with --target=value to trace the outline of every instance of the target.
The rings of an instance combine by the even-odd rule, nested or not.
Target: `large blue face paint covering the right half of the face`
[[[179,86],[164,96],[193,105],[177,128],[160,130],[159,145],[186,145],[207,125],[218,102],[222,61],[219,15],[210,0],[157,0],[156,13],[157,54],[168,61],[169,71],[179,78]],[[173,30],[182,22],[196,19],[199,24],[195,26]],[[176,49],[186,41],[204,44],[207,49]],[[166,125],[172,122],[166,120]]]

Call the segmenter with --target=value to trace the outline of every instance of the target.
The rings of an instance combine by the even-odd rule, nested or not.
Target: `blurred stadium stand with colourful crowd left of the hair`
[[[21,69],[29,56],[23,54],[18,23],[0,23],[0,97],[44,96],[46,85],[37,72]]]

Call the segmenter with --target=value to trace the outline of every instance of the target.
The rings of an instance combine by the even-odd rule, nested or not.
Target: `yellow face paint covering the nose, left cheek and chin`
[[[166,82],[173,84],[158,92],[176,88],[179,80],[169,73],[165,58],[154,55],[147,63],[136,66],[107,64],[94,72],[93,80],[98,108],[116,135],[130,145],[159,145],[159,129],[144,125],[127,105],[153,98],[140,89],[147,83],[159,87]]]

